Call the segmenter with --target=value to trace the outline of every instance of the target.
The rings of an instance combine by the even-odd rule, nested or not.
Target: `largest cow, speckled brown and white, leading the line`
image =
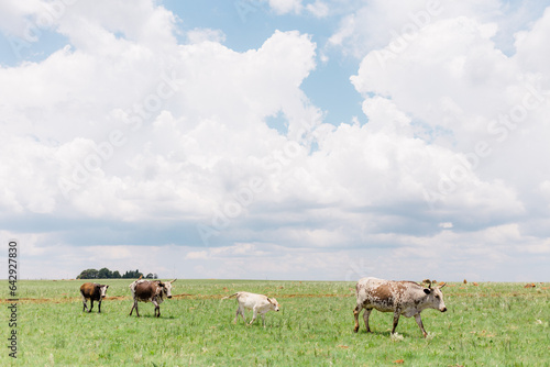
[[[371,311],[376,309],[382,312],[394,313],[392,334],[395,333],[399,316],[403,314],[405,318],[415,316],[422,335],[426,337],[428,333],[424,329],[420,312],[425,309],[436,309],[441,312],[447,311],[443,302],[443,293],[441,292],[441,288],[443,287],[444,283],[432,288],[431,282],[428,282],[428,288],[425,288],[414,281],[394,281],[376,278],[360,279],[355,286],[358,304],[353,310],[353,315],[355,316],[354,332],[356,333],[359,330],[359,314],[363,309],[365,309],[363,319],[366,332],[371,332],[369,316],[371,315]]]

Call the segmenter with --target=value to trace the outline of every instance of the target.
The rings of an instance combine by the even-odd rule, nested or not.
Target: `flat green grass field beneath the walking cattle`
[[[414,318],[373,311],[353,333],[354,282],[177,280],[173,299],[132,307],[128,279],[105,280],[108,299],[82,312],[81,280],[18,282],[18,358],[9,357],[8,286],[0,366],[550,366],[550,283],[450,283],[446,313]],[[7,282],[6,282],[7,285]],[[239,290],[277,298],[280,312],[232,323]],[[252,316],[246,313],[248,320]]]

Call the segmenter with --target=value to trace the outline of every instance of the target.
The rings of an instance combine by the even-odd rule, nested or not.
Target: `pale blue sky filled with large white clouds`
[[[550,1],[11,0],[0,32],[21,278],[549,280]]]

